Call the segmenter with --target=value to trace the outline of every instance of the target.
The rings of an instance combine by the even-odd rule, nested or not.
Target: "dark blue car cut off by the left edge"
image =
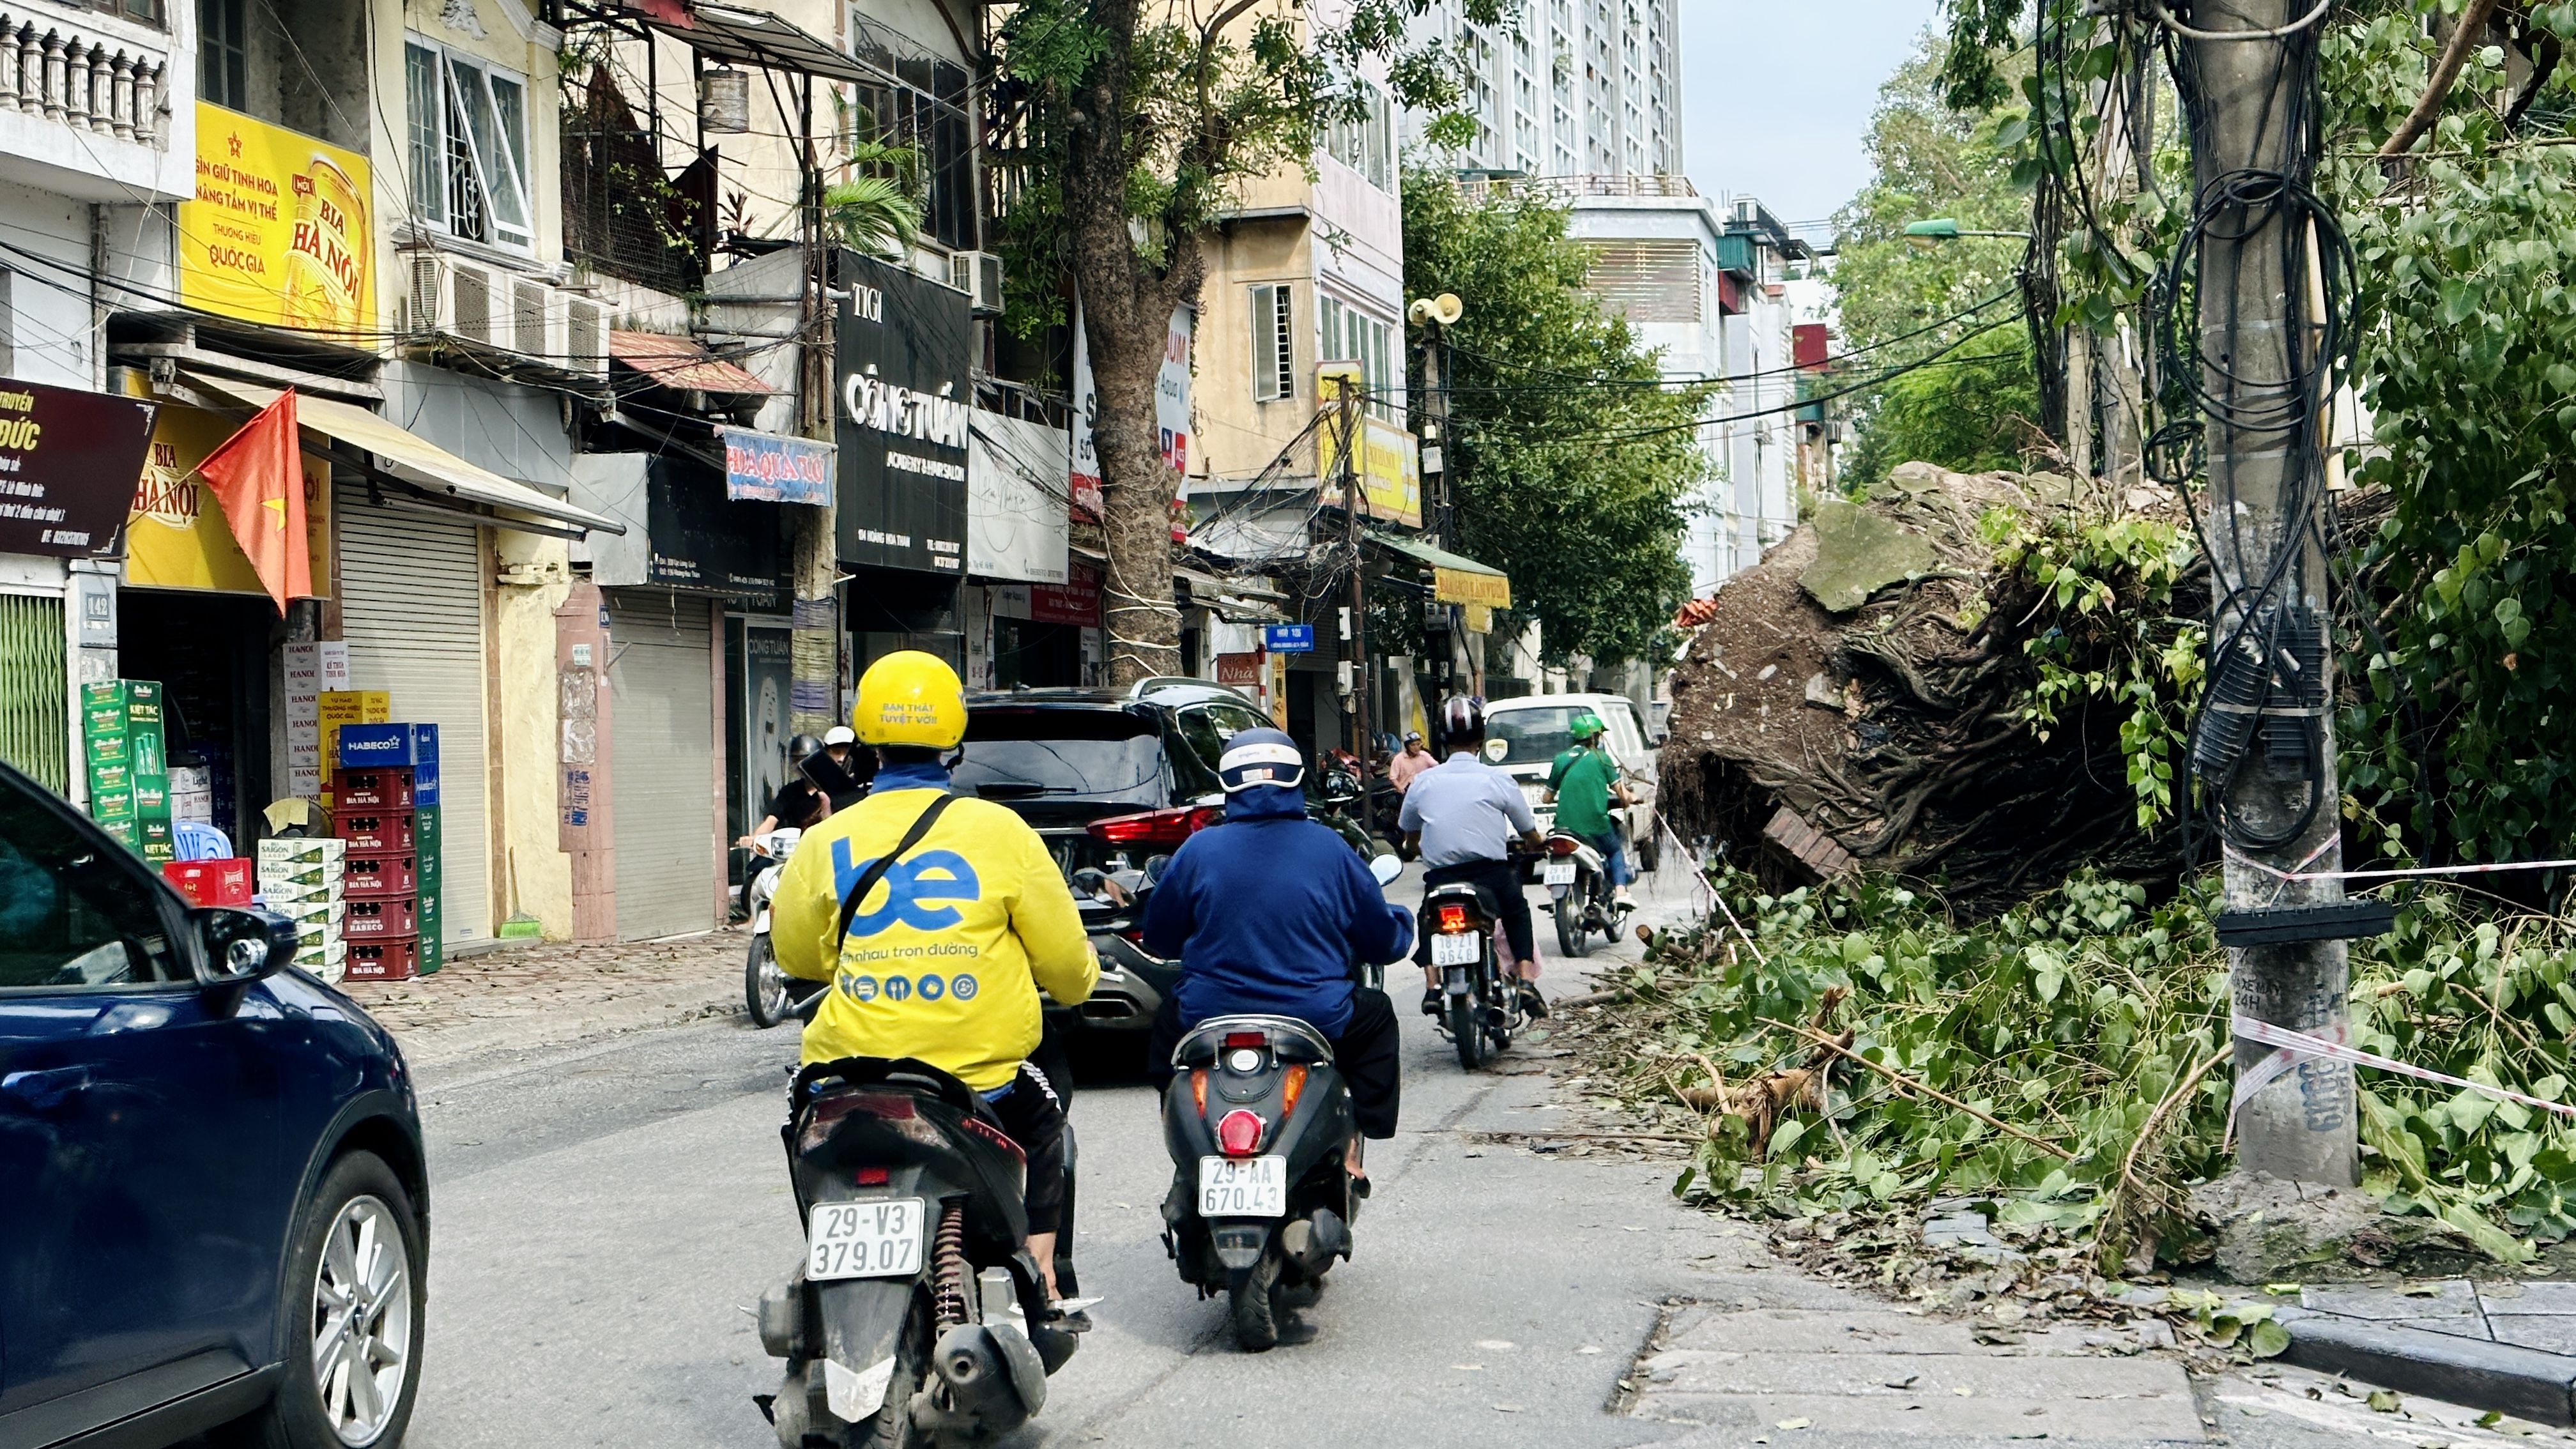
[[[428,1178],[394,1039],[0,766],[0,1446],[394,1446]]]

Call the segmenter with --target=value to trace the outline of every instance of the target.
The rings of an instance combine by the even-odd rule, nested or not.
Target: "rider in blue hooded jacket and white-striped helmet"
[[[1342,838],[1306,817],[1306,763],[1278,730],[1244,730],[1218,758],[1226,822],[1190,835],[1154,882],[1144,949],[1180,959],[1180,987],[1154,1013],[1154,1091],[1172,1047],[1213,1016],[1293,1016],[1332,1039],[1360,1137],[1396,1134],[1396,1011],[1352,985],[1352,962],[1396,962],[1414,918],[1388,905]],[[1363,1178],[1360,1142],[1345,1158]]]

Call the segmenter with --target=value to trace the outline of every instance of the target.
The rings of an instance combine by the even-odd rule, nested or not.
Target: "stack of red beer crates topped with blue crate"
[[[348,846],[348,975],[410,980],[440,949],[435,724],[343,724],[332,835]]]

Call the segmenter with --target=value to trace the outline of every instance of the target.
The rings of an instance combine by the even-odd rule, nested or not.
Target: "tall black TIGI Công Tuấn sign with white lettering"
[[[835,338],[840,559],[966,572],[969,299],[858,258]]]

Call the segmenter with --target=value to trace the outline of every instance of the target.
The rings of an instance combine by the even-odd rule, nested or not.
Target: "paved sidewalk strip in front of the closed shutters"
[[[675,941],[531,944],[407,982],[345,982],[415,1067],[742,1011],[739,926]]]

